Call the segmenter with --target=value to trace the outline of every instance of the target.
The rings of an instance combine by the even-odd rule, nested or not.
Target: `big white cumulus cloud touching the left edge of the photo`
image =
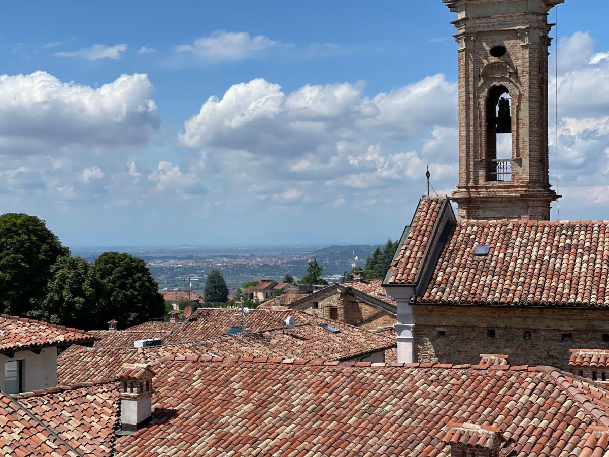
[[[152,93],[146,74],[125,74],[99,88],[44,71],[0,75],[0,155],[143,144],[160,124]]]

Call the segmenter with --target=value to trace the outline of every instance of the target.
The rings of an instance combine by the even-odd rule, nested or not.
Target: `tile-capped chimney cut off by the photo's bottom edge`
[[[490,425],[449,422],[443,431],[441,445],[450,445],[451,457],[499,457],[507,441],[499,428]]]

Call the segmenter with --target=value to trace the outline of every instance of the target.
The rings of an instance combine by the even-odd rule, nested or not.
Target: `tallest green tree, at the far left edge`
[[[27,214],[0,216],[0,309],[25,316],[42,299],[59,257],[69,255],[44,221]]]

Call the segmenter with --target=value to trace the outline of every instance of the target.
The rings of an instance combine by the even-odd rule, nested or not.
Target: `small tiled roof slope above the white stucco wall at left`
[[[93,342],[84,330],[0,314],[0,351]]]

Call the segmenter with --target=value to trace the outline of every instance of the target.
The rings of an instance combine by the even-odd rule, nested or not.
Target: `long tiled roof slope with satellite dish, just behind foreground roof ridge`
[[[152,363],[166,356],[217,355],[222,357],[288,357],[319,360],[351,360],[369,353],[385,351],[386,361],[397,361],[397,341],[388,337],[305,313],[294,312],[297,326],[293,330],[275,330],[238,335],[222,335],[196,342],[175,342],[159,347],[135,349],[132,344],[117,347],[71,347],[57,360],[59,383],[72,384],[113,378],[124,363]],[[303,317],[303,319],[301,319]],[[320,327],[329,323],[340,330],[333,333]]]

